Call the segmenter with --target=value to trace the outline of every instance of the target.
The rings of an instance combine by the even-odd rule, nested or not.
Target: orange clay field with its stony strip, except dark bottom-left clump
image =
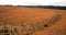
[[[10,35],[66,35],[66,10],[0,7],[2,26],[14,30]]]

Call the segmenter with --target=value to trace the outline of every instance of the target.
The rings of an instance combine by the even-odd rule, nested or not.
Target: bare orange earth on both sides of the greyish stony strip
[[[66,10],[0,7],[0,26],[7,25],[22,28],[23,26],[21,26],[21,23],[24,23],[26,28],[32,30],[28,24],[41,23],[42,20],[52,19],[58,14],[61,15],[58,21],[48,23],[48,27],[44,26],[43,31],[34,31],[32,35],[66,35]],[[42,24],[45,23],[41,23],[41,25]],[[22,32],[20,31],[20,33]],[[26,33],[26,31],[23,33]]]

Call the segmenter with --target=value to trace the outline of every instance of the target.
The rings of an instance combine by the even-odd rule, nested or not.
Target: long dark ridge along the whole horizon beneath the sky
[[[66,7],[59,7],[59,5],[0,5],[0,7],[25,7],[25,8],[66,10]]]

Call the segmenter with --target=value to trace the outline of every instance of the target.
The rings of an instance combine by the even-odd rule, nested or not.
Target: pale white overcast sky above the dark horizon
[[[0,0],[0,4],[7,5],[64,5],[66,0]]]

